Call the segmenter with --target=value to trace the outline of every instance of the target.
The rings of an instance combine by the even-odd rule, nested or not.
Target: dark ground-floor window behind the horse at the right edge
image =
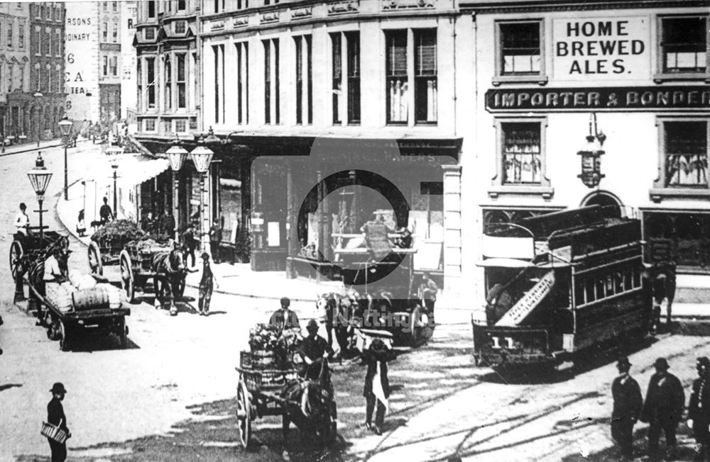
[[[647,210],[643,212],[643,230],[650,247],[667,242],[669,249],[664,252],[670,252],[680,270],[710,272],[710,212]]]

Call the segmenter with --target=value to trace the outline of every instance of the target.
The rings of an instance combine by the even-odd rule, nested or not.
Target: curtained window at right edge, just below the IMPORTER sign
[[[708,118],[658,118],[660,176],[650,195],[710,196],[708,181]]]

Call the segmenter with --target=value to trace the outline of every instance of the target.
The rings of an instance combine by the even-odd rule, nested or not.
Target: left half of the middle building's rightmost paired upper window
[[[387,123],[407,123],[409,115],[409,76],[407,74],[407,30],[385,33]]]

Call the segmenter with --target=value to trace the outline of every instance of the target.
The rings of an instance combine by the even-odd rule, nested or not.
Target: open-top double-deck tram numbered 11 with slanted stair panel
[[[643,337],[657,322],[640,220],[593,206],[489,227],[486,320],[474,356],[491,366],[557,366],[591,347]]]

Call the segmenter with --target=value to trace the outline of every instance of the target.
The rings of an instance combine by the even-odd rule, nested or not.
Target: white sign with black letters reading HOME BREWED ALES
[[[648,79],[649,22],[648,16],[553,20],[555,79]]]

